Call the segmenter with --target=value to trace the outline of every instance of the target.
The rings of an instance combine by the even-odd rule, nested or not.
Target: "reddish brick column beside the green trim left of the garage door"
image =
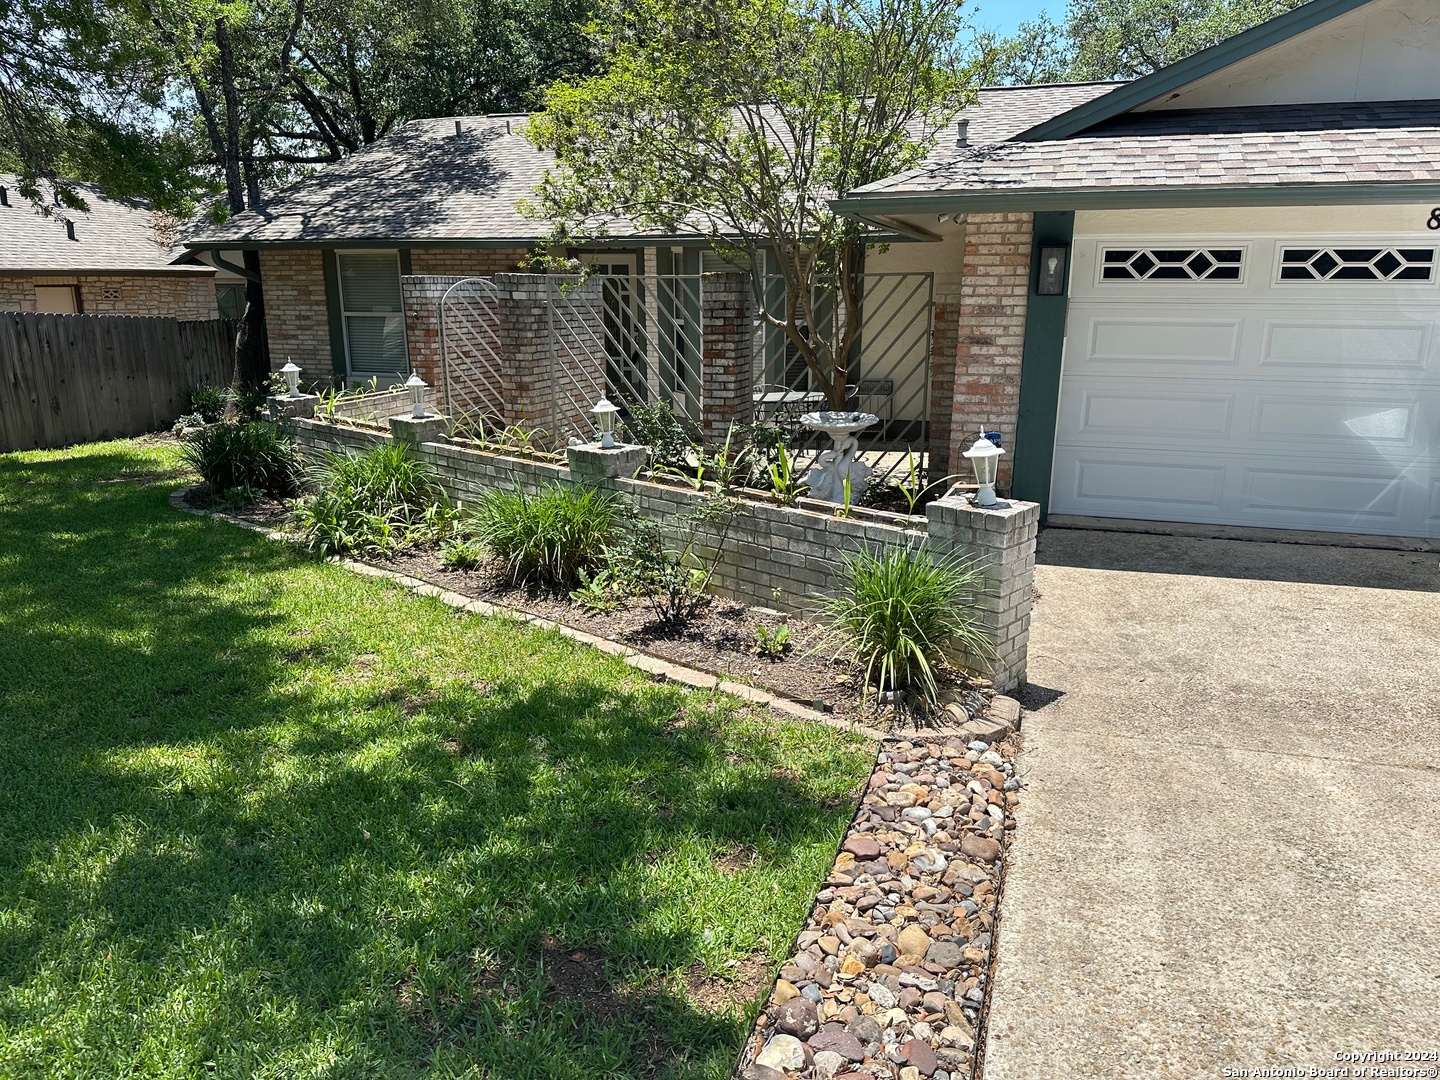
[[[949,468],[960,471],[960,454],[982,428],[998,431],[1007,449],[999,464],[1001,488],[1009,487],[1020,415],[1032,220],[1028,213],[972,213],[965,219]]]

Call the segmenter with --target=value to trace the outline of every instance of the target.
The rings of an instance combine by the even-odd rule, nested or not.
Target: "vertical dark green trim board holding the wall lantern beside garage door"
[[[1040,246],[1074,239],[1071,210],[1035,215],[1030,252],[1030,295],[1025,301],[1025,347],[1020,363],[1020,416],[1015,422],[1015,467],[1011,494],[1040,504],[1040,520],[1050,513],[1050,474],[1056,461],[1056,422],[1060,413],[1060,359],[1066,347],[1066,312],[1070,287],[1060,297],[1035,292],[1040,279]],[[1068,275],[1070,265],[1066,272]]]

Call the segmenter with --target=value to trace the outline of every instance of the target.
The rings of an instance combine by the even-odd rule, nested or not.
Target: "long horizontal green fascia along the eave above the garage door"
[[[1031,187],[852,196],[832,203],[851,217],[1002,210],[1149,210],[1188,206],[1345,206],[1440,202],[1440,181],[1171,187]]]

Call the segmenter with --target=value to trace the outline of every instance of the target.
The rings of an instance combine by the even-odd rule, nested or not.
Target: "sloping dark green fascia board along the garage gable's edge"
[[[1135,82],[1119,89],[1103,94],[1094,101],[1087,101],[1068,112],[1037,124],[1015,135],[1020,143],[1035,143],[1041,140],[1068,138],[1086,128],[1102,124],[1106,120],[1119,117],[1123,112],[1149,104],[1156,98],[1178,91],[1197,79],[1238,63],[1259,52],[1312,30],[1316,26],[1331,22],[1342,14],[1348,14],[1358,7],[1364,7],[1372,0],[1310,0],[1284,14],[1276,16],[1259,26],[1227,37],[1218,45],[1201,49],[1194,56],[1176,60],[1168,68],[1145,75]]]

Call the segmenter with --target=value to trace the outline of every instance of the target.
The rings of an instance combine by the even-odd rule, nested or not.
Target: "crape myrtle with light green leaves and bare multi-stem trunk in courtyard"
[[[876,236],[829,200],[917,164],[965,105],[962,29],[959,0],[602,0],[599,73],[528,125],[556,154],[528,212],[547,249],[616,220],[708,240],[844,408]]]

